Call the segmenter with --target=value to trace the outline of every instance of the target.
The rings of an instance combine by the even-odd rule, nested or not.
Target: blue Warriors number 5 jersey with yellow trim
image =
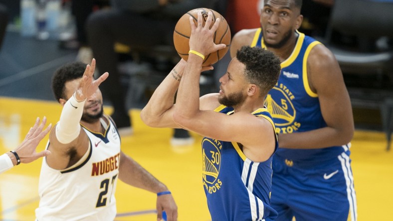
[[[325,127],[318,95],[311,91],[307,78],[307,59],[311,49],[320,44],[312,37],[299,34],[292,54],[281,63],[281,74],[275,87],[265,99],[277,133],[295,133]],[[251,47],[263,47],[262,31],[259,28]],[[337,158],[348,145],[320,149],[279,148],[276,156],[283,159],[321,162]]]

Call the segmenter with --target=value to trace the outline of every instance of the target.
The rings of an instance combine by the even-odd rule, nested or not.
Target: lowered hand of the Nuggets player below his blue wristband
[[[163,211],[167,214],[167,221],[178,220],[178,206],[176,206],[172,194],[157,197],[157,221],[162,221]]]

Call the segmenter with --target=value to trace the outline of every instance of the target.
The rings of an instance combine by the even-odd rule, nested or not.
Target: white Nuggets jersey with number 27
[[[86,131],[90,147],[76,166],[55,170],[42,161],[37,221],[113,221],[120,136],[109,120],[105,133]],[[49,142],[47,144],[47,147]]]

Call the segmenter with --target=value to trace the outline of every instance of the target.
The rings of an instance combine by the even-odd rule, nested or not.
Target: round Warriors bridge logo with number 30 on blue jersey
[[[222,185],[218,179],[221,164],[222,145],[219,140],[202,140],[202,177],[203,186],[209,194],[217,192]]]

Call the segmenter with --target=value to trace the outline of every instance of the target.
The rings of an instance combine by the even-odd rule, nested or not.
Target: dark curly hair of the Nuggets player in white
[[[58,68],[52,76],[52,92],[57,102],[59,99],[67,100],[65,95],[65,83],[83,77],[86,64],[75,61]]]

